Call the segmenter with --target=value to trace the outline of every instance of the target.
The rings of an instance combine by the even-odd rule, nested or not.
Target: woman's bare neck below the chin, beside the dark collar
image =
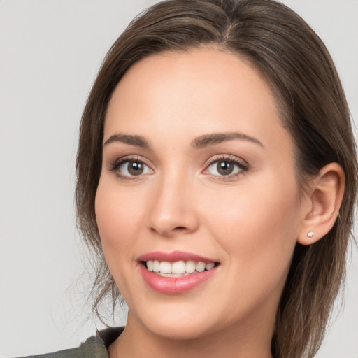
[[[273,324],[263,322],[268,321],[241,322],[213,329],[206,336],[179,340],[156,335],[129,312],[124,332],[110,346],[110,358],[272,358]]]

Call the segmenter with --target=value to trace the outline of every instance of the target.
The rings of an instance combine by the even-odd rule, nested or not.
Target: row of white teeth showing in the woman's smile
[[[148,271],[153,271],[161,276],[167,277],[181,277],[182,275],[189,275],[194,272],[203,272],[205,270],[211,270],[215,267],[214,262],[206,264],[205,262],[194,261],[176,261],[166,262],[158,260],[148,260],[146,262]]]

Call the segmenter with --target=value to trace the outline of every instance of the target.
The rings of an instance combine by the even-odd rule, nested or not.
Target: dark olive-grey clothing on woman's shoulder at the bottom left
[[[115,341],[123,329],[124,327],[116,327],[97,331],[96,336],[88,338],[77,348],[23,358],[108,358],[109,345]]]

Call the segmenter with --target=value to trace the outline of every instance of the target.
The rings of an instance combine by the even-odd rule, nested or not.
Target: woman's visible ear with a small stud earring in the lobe
[[[320,240],[334,226],[345,187],[343,168],[338,163],[324,166],[309,185],[306,213],[297,241],[310,245]]]

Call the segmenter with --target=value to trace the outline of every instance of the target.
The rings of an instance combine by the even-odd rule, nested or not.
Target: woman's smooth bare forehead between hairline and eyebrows
[[[240,130],[270,141],[277,139],[270,138],[272,128],[288,135],[259,71],[231,52],[199,48],[152,55],[131,66],[110,100],[104,137],[115,131],[194,137]]]

